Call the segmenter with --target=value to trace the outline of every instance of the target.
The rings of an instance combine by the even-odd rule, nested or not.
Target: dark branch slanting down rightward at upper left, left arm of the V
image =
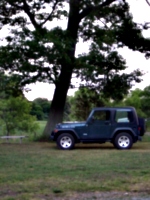
[[[23,9],[24,9],[25,13],[28,15],[28,17],[30,18],[34,28],[35,29],[40,28],[40,25],[35,21],[34,14],[30,12],[30,7],[27,4],[26,0],[23,0]]]

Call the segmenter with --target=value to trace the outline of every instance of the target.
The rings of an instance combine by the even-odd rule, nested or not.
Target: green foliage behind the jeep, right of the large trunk
[[[119,91],[118,91],[119,92]],[[150,118],[150,86],[144,90],[135,89],[124,95],[124,99],[108,98],[107,94],[81,87],[74,96],[67,99],[65,114],[67,121],[85,120],[94,107],[133,106],[140,117]],[[64,118],[66,120],[66,118]],[[147,125],[149,122],[147,122]]]

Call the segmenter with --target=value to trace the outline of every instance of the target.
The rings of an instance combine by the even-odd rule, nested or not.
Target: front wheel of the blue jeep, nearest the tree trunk
[[[57,138],[57,146],[59,149],[70,150],[73,149],[75,145],[74,137],[69,133],[62,133]]]

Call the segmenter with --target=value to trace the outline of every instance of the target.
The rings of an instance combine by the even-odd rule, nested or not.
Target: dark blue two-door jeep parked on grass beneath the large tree
[[[145,121],[138,118],[133,107],[94,108],[86,121],[57,124],[51,139],[63,150],[73,149],[76,143],[111,142],[117,149],[130,149],[141,140]]]

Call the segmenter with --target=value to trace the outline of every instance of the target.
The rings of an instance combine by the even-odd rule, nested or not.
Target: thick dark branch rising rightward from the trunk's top
[[[87,8],[85,8],[80,14],[79,14],[79,19],[80,21],[86,17],[87,15],[89,15],[91,12],[95,11],[95,10],[99,10],[105,6],[110,5],[111,3],[115,2],[116,0],[106,0],[104,3],[98,5],[98,6],[89,6]]]

